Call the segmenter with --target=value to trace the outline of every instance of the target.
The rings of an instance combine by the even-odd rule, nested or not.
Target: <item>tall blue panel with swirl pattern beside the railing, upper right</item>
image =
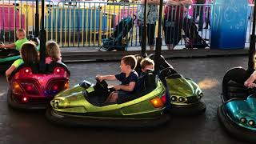
[[[242,49],[246,42],[247,0],[214,1],[210,48]]]

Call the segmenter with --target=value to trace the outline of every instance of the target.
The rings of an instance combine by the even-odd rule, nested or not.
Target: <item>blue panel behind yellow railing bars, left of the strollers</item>
[[[56,16],[57,12],[58,12],[58,19]],[[106,16],[104,16],[104,14],[102,14],[102,17],[100,17],[100,13],[101,13],[100,10],[59,8],[59,9],[54,9],[54,11],[50,11],[50,13],[54,13],[53,14],[54,18],[51,18],[51,14],[49,14],[48,30],[51,30],[51,21],[53,20],[54,31],[56,31],[56,25],[58,25],[58,31],[60,30],[82,31],[82,28],[85,31],[86,30],[98,31],[100,27],[100,18],[102,18],[102,26],[101,26],[102,30],[107,30],[107,18]],[[82,16],[83,16],[82,13],[84,13],[84,25],[82,25]],[[86,25],[86,13],[88,13],[87,25]]]

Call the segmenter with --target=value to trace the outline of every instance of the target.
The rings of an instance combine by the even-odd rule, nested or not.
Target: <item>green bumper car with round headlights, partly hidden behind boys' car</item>
[[[154,59],[154,54],[148,56]],[[203,96],[200,87],[190,78],[178,74],[165,58],[160,58],[160,79],[166,84],[170,95],[170,113],[174,115],[202,114],[206,105],[201,102]]]

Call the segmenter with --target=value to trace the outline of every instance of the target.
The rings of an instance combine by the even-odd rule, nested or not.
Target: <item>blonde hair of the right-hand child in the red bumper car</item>
[[[53,61],[57,62],[61,59],[61,56],[61,51],[59,50],[59,46],[56,42],[46,42],[46,57],[50,57]]]

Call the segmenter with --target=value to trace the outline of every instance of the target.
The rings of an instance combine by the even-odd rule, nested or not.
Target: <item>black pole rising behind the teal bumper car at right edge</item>
[[[248,70],[251,73],[254,72],[254,55],[255,55],[255,24],[256,24],[256,0],[254,0],[254,21],[253,21],[253,32],[250,34],[250,49],[249,49],[249,61]]]

